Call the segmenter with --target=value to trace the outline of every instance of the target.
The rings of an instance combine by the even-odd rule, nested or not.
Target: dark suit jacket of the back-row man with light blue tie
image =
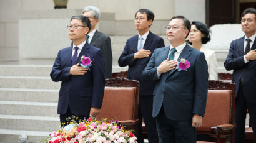
[[[134,53],[137,52],[138,39],[138,35],[135,35],[127,40],[124,51],[119,57],[118,64],[120,67],[129,66],[127,78],[140,82],[140,95],[152,95],[155,82],[140,79],[140,75],[149,62],[150,57],[134,60]],[[150,50],[153,53],[155,48],[160,47],[164,47],[164,40],[149,32],[145,40],[144,49]]]

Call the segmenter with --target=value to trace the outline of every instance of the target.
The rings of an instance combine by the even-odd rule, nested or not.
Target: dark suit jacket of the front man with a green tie
[[[180,56],[190,62],[187,71],[173,70],[170,74],[162,73],[157,78],[157,67],[168,57],[169,47],[154,51],[142,78],[156,81],[153,101],[153,117],[159,114],[161,107],[167,118],[175,121],[191,120],[192,116],[204,116],[207,90],[208,71],[204,53],[186,45]]]

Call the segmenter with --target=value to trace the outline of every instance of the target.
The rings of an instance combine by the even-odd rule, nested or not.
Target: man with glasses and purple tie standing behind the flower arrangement
[[[52,81],[61,81],[57,107],[61,126],[69,124],[68,117],[84,120],[90,114],[99,114],[105,87],[102,51],[86,42],[90,20],[82,15],[73,16],[67,28],[73,45],[59,50],[51,71]],[[82,56],[91,58],[89,68],[79,66]]]

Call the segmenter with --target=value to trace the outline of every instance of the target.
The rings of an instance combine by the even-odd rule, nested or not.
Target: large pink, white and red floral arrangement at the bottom
[[[79,123],[71,122],[58,131],[53,131],[47,143],[136,143],[137,138],[132,131],[126,131],[124,127],[118,125],[118,121],[107,119],[96,121],[90,117],[87,121]]]

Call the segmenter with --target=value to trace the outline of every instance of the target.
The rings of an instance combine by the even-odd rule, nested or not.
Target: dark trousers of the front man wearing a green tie
[[[157,116],[157,132],[160,143],[195,143],[197,138],[191,120],[170,120],[165,116],[164,108]]]

